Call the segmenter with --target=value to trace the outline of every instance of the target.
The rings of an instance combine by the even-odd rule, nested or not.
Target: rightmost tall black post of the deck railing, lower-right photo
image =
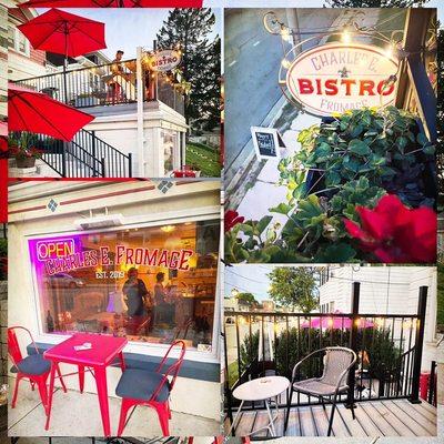
[[[421,377],[421,362],[423,357],[424,345],[424,324],[425,312],[427,309],[427,287],[420,286],[420,297],[417,301],[417,317],[416,317],[416,335],[415,335],[415,354],[413,357],[413,372],[412,372],[412,392],[408,401],[412,404],[421,404],[420,400],[420,377]]]

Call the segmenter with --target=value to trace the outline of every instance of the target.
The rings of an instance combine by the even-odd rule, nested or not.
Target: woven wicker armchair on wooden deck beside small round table
[[[313,355],[320,353],[325,353],[324,369],[322,376],[311,377],[304,381],[296,381],[297,370],[302,365],[302,363],[311,359]],[[353,350],[339,346],[316,350],[315,352],[310,353],[307,356],[297,362],[292,373],[291,390],[287,400],[287,408],[285,417],[285,431],[289,424],[289,416],[290,416],[290,408],[291,408],[293,393],[300,392],[305,395],[319,397],[324,410],[325,410],[325,403],[324,403],[325,398],[327,398],[332,403],[332,413],[330,414],[329,432],[327,432],[327,436],[330,436],[333,427],[333,417],[334,417],[334,411],[336,408],[337,395],[346,393],[349,391],[349,385],[346,380],[349,372],[355,365],[355,363],[356,363],[356,354],[353,352]],[[353,407],[352,407],[352,415],[354,420],[355,416]]]

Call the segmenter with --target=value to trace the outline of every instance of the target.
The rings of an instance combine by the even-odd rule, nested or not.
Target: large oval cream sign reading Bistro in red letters
[[[382,48],[327,43],[299,54],[287,68],[286,87],[304,109],[332,115],[395,100],[397,61]]]

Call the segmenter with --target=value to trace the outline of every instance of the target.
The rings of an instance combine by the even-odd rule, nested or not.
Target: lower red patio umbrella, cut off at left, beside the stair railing
[[[93,115],[51,99],[41,92],[8,85],[8,129],[47,134],[69,142]]]

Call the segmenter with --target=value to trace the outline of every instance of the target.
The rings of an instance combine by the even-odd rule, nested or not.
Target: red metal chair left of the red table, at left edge
[[[31,339],[32,345],[36,349],[36,354],[30,354],[23,357],[20,351],[19,341],[17,339],[17,330],[22,330],[28,333],[29,337]],[[11,357],[11,361],[17,371],[16,386],[12,396],[11,407],[16,407],[20,381],[23,379],[28,379],[31,383],[32,390],[34,390],[34,385],[38,386],[40,398],[44,407],[44,413],[48,414],[47,380],[51,370],[51,363],[43,357],[43,354],[40,353],[36,341],[32,337],[32,334],[28,329],[23,326],[11,326],[8,329],[8,354]],[[67,387],[64,385],[59,366],[57,366],[57,373],[62,384],[63,392],[67,392]]]

